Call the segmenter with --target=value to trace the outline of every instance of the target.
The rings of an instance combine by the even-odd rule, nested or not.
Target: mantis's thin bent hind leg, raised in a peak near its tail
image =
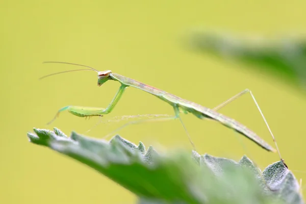
[[[262,118],[263,118],[263,120],[264,120],[264,122],[265,122],[265,124],[266,124],[266,126],[267,126],[267,128],[268,128],[268,130],[269,130],[270,135],[272,136],[273,142],[274,142],[275,147],[276,147],[277,152],[278,152],[279,159],[281,159],[281,161],[283,162],[283,164],[288,168],[287,164],[285,163],[285,161],[283,160],[283,158],[282,158],[282,156],[281,156],[281,152],[280,152],[279,149],[278,149],[278,146],[277,146],[275,137],[274,137],[274,135],[273,135],[273,133],[272,133],[272,131],[271,131],[271,129],[270,129],[270,126],[269,126],[269,124],[268,124],[268,122],[267,122],[267,120],[266,120],[266,118],[265,118],[265,116],[264,116],[264,114],[263,114],[261,108],[259,107],[259,104],[257,103],[257,100],[255,99],[254,95],[252,94],[252,92],[251,92],[249,89],[245,89],[245,90],[241,91],[240,93],[234,95],[233,97],[231,97],[231,98],[225,100],[222,104],[220,104],[220,105],[216,106],[215,108],[213,108],[213,110],[214,110],[214,111],[217,111],[217,110],[223,108],[223,107],[226,106],[227,104],[231,103],[232,101],[234,101],[235,99],[239,98],[240,96],[242,96],[242,95],[244,95],[244,94],[246,94],[246,93],[250,93],[250,95],[252,96],[252,99],[253,99],[253,101],[254,101],[254,103],[255,103],[257,109],[259,110],[259,112],[260,112],[260,114],[261,114],[261,116],[262,116]]]

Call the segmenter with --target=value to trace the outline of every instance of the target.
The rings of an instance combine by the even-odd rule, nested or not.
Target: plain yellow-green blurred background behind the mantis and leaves
[[[97,87],[96,73],[86,71],[39,81],[48,73],[79,68],[43,61],[111,69],[209,108],[249,88],[289,168],[306,169],[305,96],[273,75],[195,54],[183,46],[183,37],[198,27],[239,35],[304,34],[304,1],[4,0],[0,5],[0,203],[133,203],[136,199],[87,166],[29,143],[27,132],[33,127],[56,126],[66,134],[85,134],[98,118],[85,120],[63,113],[52,125],[45,124],[63,106],[106,108],[119,87],[116,82]],[[220,112],[274,145],[249,95]],[[172,114],[172,108],[128,88],[105,119],[137,114]],[[192,115],[184,115],[183,120],[200,154],[235,160],[246,154],[262,169],[279,159],[216,122]],[[122,124],[98,125],[86,135],[103,137]],[[146,146],[159,143],[191,149],[179,121],[133,125],[119,134]],[[306,174],[294,173],[297,179],[306,179]]]

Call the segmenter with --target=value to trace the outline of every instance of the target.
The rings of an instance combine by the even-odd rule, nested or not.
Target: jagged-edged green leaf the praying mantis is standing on
[[[28,137],[108,176],[142,204],[303,203],[294,175],[282,162],[269,165],[262,174],[245,156],[235,162],[196,151],[158,153],[118,135],[110,141],[75,132],[67,137],[55,128],[34,129]]]

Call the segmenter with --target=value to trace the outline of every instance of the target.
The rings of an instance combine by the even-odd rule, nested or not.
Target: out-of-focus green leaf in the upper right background
[[[192,48],[223,59],[242,62],[285,79],[287,83],[306,88],[306,40],[258,38],[246,40],[229,34],[195,32]]]

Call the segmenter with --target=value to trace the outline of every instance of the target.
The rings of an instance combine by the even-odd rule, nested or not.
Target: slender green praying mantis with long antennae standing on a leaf
[[[165,101],[166,103],[168,103],[170,106],[173,107],[174,110],[174,116],[172,117],[168,117],[168,118],[164,118],[164,120],[171,120],[171,119],[179,119],[188,135],[188,139],[190,141],[190,143],[192,144],[193,148],[195,149],[195,146],[187,132],[187,129],[180,117],[180,113],[183,112],[185,114],[187,113],[191,113],[194,116],[196,116],[199,119],[212,119],[215,120],[219,123],[221,123],[222,125],[233,129],[234,131],[242,134],[243,136],[247,137],[248,139],[252,140],[253,142],[255,142],[256,144],[258,144],[259,146],[261,146],[262,148],[268,150],[268,151],[272,151],[272,152],[278,152],[279,158],[281,159],[281,161],[284,163],[284,165],[287,167],[287,165],[285,164],[284,160],[281,157],[281,154],[278,150],[277,147],[277,143],[276,140],[274,138],[274,135],[272,134],[272,131],[267,123],[267,120],[265,119],[255,97],[253,96],[252,92],[249,89],[245,89],[244,91],[236,94],[235,96],[231,97],[230,99],[227,99],[226,101],[224,101],[221,105],[217,106],[214,109],[209,109],[206,107],[203,107],[199,104],[196,104],[192,101],[180,98],[178,96],[175,96],[171,93],[168,93],[166,91],[157,89],[155,87],[143,84],[141,82],[138,82],[136,80],[133,80],[131,78],[127,78],[124,77],[123,75],[117,74],[117,73],[113,73],[111,70],[105,70],[105,71],[98,71],[92,67],[86,66],[86,65],[81,65],[81,64],[74,64],[74,63],[68,63],[68,62],[54,62],[54,61],[49,61],[49,62],[44,62],[44,63],[62,63],[62,64],[70,64],[70,65],[77,65],[77,66],[82,66],[82,67],[87,67],[88,69],[75,69],[75,70],[68,70],[68,71],[62,71],[62,72],[57,72],[57,73],[53,73],[53,74],[48,74],[40,79],[43,79],[45,77],[49,77],[50,75],[55,75],[55,74],[59,74],[59,73],[64,73],[64,72],[70,72],[70,71],[79,71],[79,70],[90,70],[90,71],[96,71],[97,72],[97,85],[98,86],[102,86],[104,83],[106,83],[108,80],[113,80],[113,81],[117,81],[120,83],[120,87],[116,93],[116,95],[114,96],[114,98],[112,99],[111,103],[109,104],[109,106],[106,109],[103,108],[92,108],[92,107],[80,107],[80,106],[65,106],[63,108],[61,108],[56,116],[54,117],[54,119],[52,121],[50,121],[48,124],[50,124],[51,122],[53,122],[61,112],[63,111],[68,111],[69,113],[75,115],[75,116],[79,116],[79,117],[91,117],[91,116],[103,116],[105,114],[109,114],[112,112],[112,110],[114,109],[114,107],[116,106],[116,104],[118,103],[118,101],[120,100],[120,98],[122,97],[125,89],[127,87],[134,87],[137,89],[140,89],[142,91],[145,91],[147,93],[150,93],[158,98],[160,98],[161,100]],[[218,109],[224,107],[225,105],[227,105],[228,103],[231,103],[231,101],[235,100],[236,98],[240,97],[241,95],[245,94],[245,93],[250,93],[252,96],[252,99],[254,100],[254,103],[256,104],[258,110],[260,111],[267,127],[268,130],[273,138],[273,142],[276,146],[276,150],[270,146],[266,141],[264,141],[262,138],[260,138],[256,133],[254,133],[253,131],[251,131],[248,127],[244,126],[243,124],[239,123],[238,121],[227,117],[225,115],[222,115],[218,112],[216,112]],[[287,167],[288,168],[288,167]]]

